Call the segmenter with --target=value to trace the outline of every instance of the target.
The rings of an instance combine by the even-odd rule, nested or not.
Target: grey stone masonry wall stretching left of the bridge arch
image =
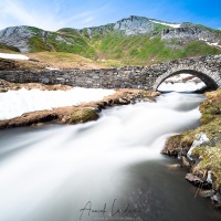
[[[71,71],[1,71],[0,78],[17,83],[65,84],[92,88],[150,90],[156,77],[141,75],[143,67]]]

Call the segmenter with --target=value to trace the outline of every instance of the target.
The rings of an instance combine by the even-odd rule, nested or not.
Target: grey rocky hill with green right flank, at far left
[[[78,34],[59,34],[34,27],[11,27],[0,31],[0,43],[18,48],[22,53],[64,51],[78,53],[87,43]]]

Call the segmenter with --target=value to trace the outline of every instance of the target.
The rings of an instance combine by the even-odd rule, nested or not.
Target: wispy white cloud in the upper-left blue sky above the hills
[[[108,6],[91,6],[67,10],[64,0],[53,0],[50,3],[25,3],[22,0],[1,0],[0,2],[0,30],[13,25],[32,25],[44,30],[91,27],[101,22],[108,10]],[[74,14],[74,15],[73,15]]]

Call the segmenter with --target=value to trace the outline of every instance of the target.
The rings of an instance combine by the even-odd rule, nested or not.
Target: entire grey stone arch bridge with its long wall
[[[169,76],[189,73],[208,88],[221,87],[221,54],[180,59],[150,66],[101,70],[0,71],[0,78],[17,83],[66,84],[92,88],[143,88],[157,91]]]

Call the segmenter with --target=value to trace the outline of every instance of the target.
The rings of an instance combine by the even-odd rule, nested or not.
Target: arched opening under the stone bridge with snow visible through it
[[[159,92],[207,92],[219,86],[207,74],[192,70],[181,70],[165,74],[156,81],[154,88]]]

